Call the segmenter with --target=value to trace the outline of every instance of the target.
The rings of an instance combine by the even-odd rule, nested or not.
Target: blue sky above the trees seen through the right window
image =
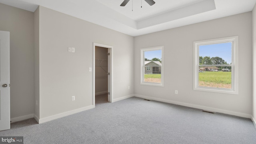
[[[228,64],[232,61],[232,43],[210,44],[199,46],[199,56],[220,57]]]

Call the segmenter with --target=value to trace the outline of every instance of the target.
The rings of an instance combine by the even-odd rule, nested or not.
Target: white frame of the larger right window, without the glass
[[[222,66],[231,66],[231,89],[225,88],[211,88],[211,87],[204,87],[198,86],[198,69],[199,66],[206,66],[206,65],[199,65],[199,46],[206,45],[206,44],[218,44],[218,43],[225,43],[225,42],[232,42],[232,62],[228,65]],[[218,38],[212,40],[201,40],[194,42],[194,90],[206,91],[206,92],[219,92],[219,93],[226,93],[226,94],[238,94],[238,36],[232,36],[227,38]],[[207,66],[220,66],[220,65],[207,65]]]

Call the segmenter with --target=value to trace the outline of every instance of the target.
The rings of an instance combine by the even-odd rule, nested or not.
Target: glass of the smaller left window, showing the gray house
[[[144,51],[144,82],[161,83],[162,50]]]

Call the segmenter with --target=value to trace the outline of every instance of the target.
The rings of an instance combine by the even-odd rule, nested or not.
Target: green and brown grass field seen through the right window
[[[232,88],[231,72],[199,72],[198,85],[213,88]]]

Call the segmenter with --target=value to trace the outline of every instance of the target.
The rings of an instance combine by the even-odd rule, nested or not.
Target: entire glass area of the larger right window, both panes
[[[232,42],[199,46],[199,65],[222,65],[232,63]],[[198,86],[232,88],[229,66],[200,66]]]

